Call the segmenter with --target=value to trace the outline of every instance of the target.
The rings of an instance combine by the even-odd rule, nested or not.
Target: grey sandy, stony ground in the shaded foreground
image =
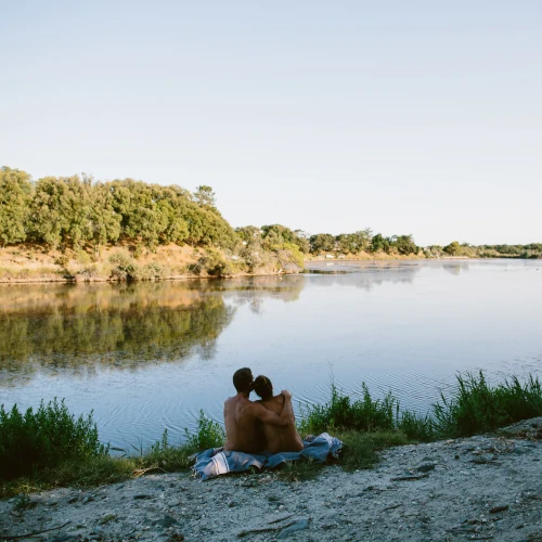
[[[542,541],[542,418],[390,449],[372,470],[328,466],[302,482],[153,475],[17,502],[0,502],[0,540]]]

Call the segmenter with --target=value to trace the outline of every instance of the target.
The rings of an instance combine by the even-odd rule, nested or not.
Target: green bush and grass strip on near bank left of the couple
[[[75,418],[64,401],[41,403],[23,415],[15,405],[0,406],[0,498],[26,494],[51,486],[98,486],[142,476],[149,472],[173,473],[191,467],[191,456],[223,444],[224,431],[203,411],[197,429],[185,429],[185,441],[175,446],[167,429],[162,439],[136,454],[126,450],[111,456],[98,440],[92,413]]]

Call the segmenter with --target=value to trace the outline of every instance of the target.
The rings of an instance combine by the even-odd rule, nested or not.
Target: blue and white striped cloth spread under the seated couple
[[[263,467],[275,468],[287,461],[299,461],[310,457],[318,463],[324,463],[330,456],[338,457],[343,442],[322,433],[310,442],[304,440],[304,449],[300,452],[281,452],[271,454],[249,454],[244,452],[224,452],[223,448],[210,448],[194,455],[195,464],[193,472],[202,480],[228,473],[244,473],[250,467],[261,470]]]

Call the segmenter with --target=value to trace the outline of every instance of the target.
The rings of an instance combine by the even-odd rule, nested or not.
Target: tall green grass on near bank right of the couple
[[[352,401],[332,385],[330,402],[310,405],[299,423],[301,433],[401,431],[408,439],[431,441],[494,431],[520,420],[542,415],[542,385],[516,376],[491,386],[483,373],[457,375],[452,397],[443,395],[426,414],[400,409],[390,393],[373,399],[363,385],[362,398]]]

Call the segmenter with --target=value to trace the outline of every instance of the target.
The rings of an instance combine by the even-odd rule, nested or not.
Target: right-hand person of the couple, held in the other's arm
[[[287,410],[291,418],[287,425],[263,425],[263,435],[267,440],[267,451],[279,452],[300,452],[304,443],[296,429],[296,420],[292,400],[286,399],[284,391],[273,397],[273,385],[267,376],[258,376],[254,382],[254,390],[261,397],[260,402],[266,409],[274,413],[282,413]]]

